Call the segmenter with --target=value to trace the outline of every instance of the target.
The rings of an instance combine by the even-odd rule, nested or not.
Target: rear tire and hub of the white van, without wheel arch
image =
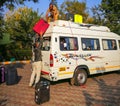
[[[87,81],[87,73],[84,69],[77,69],[74,76],[76,86],[84,85]]]

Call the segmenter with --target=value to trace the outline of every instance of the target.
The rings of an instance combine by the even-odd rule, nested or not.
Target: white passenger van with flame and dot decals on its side
[[[120,36],[105,26],[51,22],[43,36],[42,76],[83,85],[92,74],[120,70]]]

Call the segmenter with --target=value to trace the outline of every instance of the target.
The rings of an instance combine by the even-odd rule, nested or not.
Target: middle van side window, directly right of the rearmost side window
[[[81,38],[83,50],[100,50],[99,39]]]

